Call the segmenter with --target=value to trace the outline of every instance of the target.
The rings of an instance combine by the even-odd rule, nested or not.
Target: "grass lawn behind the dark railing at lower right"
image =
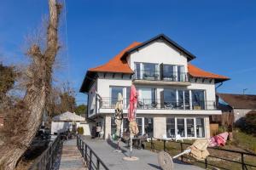
[[[183,144],[183,150],[185,150],[190,144],[193,144],[193,140],[185,140]],[[150,142],[145,145],[146,149],[151,149]],[[255,146],[256,146],[256,138],[252,135],[248,135],[246,133],[242,133],[239,130],[233,132],[233,140],[227,142],[227,144],[222,147],[227,150],[238,150],[244,152],[251,152],[255,154]],[[164,142],[159,140],[154,140],[154,151],[158,152],[163,150]],[[166,151],[171,155],[175,156],[178,153],[181,153],[181,144],[174,142],[166,142]],[[223,167],[222,169],[231,169],[231,170],[240,170],[241,164],[232,162],[232,161],[241,161],[241,154],[228,152],[224,150],[213,150],[208,149],[210,156],[207,157],[207,163],[214,165],[215,167]],[[217,159],[211,156],[218,156],[224,159],[228,159],[231,161],[224,161],[221,159]],[[194,164],[199,167],[205,168],[204,161],[198,162],[189,156],[184,156],[184,161]],[[179,158],[180,159],[180,158]],[[256,157],[255,156],[244,156],[244,161],[247,164],[252,164],[256,166]],[[208,168],[212,168],[212,166],[208,166]],[[256,167],[247,167],[248,170],[256,170]]]

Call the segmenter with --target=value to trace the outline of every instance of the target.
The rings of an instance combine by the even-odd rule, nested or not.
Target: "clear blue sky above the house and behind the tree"
[[[111,59],[131,42],[160,33],[188,49],[192,62],[230,77],[222,93],[256,94],[256,1],[254,0],[66,0],[61,20],[61,62],[55,80],[69,80],[79,91],[86,70]],[[6,64],[24,62],[24,37],[48,13],[44,0],[9,0],[0,5],[0,56]],[[66,47],[67,40],[67,47]],[[68,56],[67,59],[67,48]],[[0,58],[1,59],[1,58]],[[86,96],[77,94],[78,103]]]

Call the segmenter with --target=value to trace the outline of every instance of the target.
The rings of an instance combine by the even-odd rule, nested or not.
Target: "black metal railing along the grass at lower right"
[[[154,150],[154,142],[153,142],[154,139],[156,139],[156,138],[151,138],[151,141],[150,141],[150,148],[151,148],[151,150]],[[156,140],[162,140],[164,142],[163,150],[165,150],[165,151],[166,151],[166,141],[180,144],[181,152],[183,152],[183,144],[191,145],[191,144],[186,143],[186,142],[176,142],[176,141],[166,140],[166,139],[156,139]],[[220,156],[211,156],[210,155],[208,157],[218,158],[220,160],[231,161],[231,162],[235,162],[235,163],[241,164],[241,169],[242,170],[247,170],[247,167],[256,167],[256,165],[252,165],[252,164],[246,163],[244,161],[244,156],[255,156],[255,159],[256,159],[256,154],[249,153],[249,152],[244,152],[244,151],[238,151],[238,150],[227,150],[227,149],[213,148],[213,147],[208,147],[207,149],[209,149],[209,150],[223,150],[223,151],[226,151],[226,152],[232,152],[232,153],[241,154],[241,161],[234,161],[234,160],[230,160],[230,159],[227,159],[227,158],[224,158],[224,157],[220,157]],[[181,156],[181,160],[182,161],[183,161],[183,157],[184,156]],[[197,160],[195,160],[195,161],[197,161]],[[222,169],[227,169],[226,167],[219,167],[218,165],[213,165],[212,163],[208,163],[207,158],[205,159],[205,161],[197,161],[197,162],[204,163],[206,168],[208,166],[213,166],[213,167],[218,167],[218,168],[222,168]]]

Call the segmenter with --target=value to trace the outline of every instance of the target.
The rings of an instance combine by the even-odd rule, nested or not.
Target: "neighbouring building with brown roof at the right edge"
[[[217,94],[218,108],[234,114],[234,122],[240,123],[249,111],[256,111],[256,95]]]

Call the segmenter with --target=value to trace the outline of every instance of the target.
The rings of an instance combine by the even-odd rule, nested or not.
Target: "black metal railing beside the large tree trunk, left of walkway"
[[[48,148],[44,150],[43,154],[29,167],[29,170],[51,170],[55,164],[56,156],[61,146],[61,136],[58,135],[56,139],[49,144]]]

